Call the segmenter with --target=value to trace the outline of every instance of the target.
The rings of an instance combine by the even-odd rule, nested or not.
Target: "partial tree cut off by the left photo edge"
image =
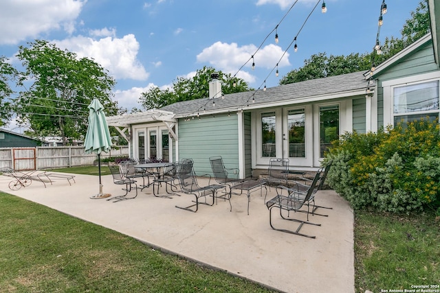
[[[10,65],[4,56],[0,56],[0,126],[8,122],[12,116],[10,95],[14,93],[10,82],[18,77],[18,71]]]

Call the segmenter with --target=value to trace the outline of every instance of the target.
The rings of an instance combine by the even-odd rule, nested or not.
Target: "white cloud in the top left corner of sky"
[[[2,0],[0,44],[18,44],[27,38],[63,28],[75,30],[75,20],[87,0]]]

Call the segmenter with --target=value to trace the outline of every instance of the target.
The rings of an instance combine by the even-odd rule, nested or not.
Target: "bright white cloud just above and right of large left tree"
[[[123,38],[101,38],[94,40],[86,36],[75,36],[65,40],[54,40],[61,49],[75,52],[78,57],[94,58],[109,70],[115,79],[146,80],[149,73],[137,60],[139,43],[133,34]]]

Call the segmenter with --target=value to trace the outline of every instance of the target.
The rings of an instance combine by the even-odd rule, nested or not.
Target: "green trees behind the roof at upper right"
[[[373,50],[370,54],[352,53],[347,56],[327,57],[325,53],[318,53],[304,61],[304,66],[287,73],[280,80],[280,84],[292,84],[315,78],[326,78],[344,73],[369,70],[371,65],[380,64],[391,58],[399,51],[411,45],[416,40],[430,32],[428,7],[425,1],[420,1],[415,12],[411,12],[411,18],[401,30],[401,38],[385,38],[382,45],[382,54],[377,55]]]

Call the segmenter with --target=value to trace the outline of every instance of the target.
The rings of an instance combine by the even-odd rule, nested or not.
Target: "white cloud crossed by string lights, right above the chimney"
[[[252,54],[255,53],[257,47],[255,45],[244,45],[239,47],[236,43],[221,43],[217,42],[207,47],[197,55],[198,62],[208,62],[215,69],[219,69],[226,73],[235,74],[239,68],[246,63],[243,69],[250,69]],[[255,67],[263,67],[265,69],[273,69],[278,63],[278,67],[287,67],[289,63],[289,53],[286,52],[283,59],[283,49],[277,45],[267,45],[261,47],[259,51],[254,54]],[[243,78],[246,82],[254,82],[255,77],[252,73],[241,69],[237,74],[238,77]]]

